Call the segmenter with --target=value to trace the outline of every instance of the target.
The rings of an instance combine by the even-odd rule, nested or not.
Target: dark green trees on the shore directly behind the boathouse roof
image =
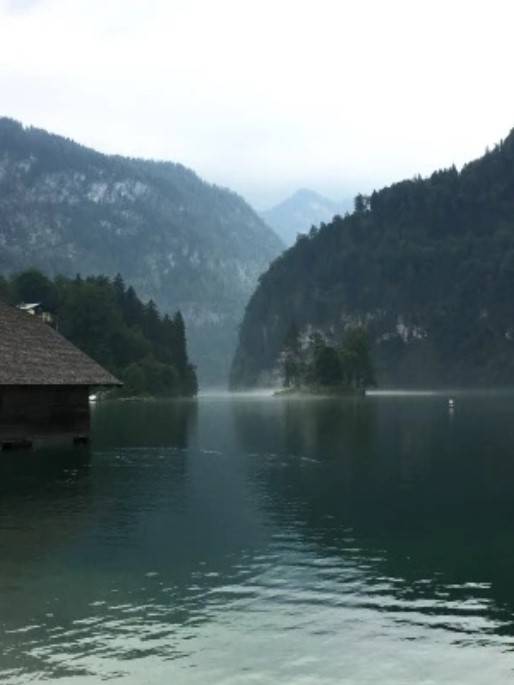
[[[65,337],[123,381],[124,394],[196,395],[182,315],[161,317],[121,276],[51,281],[31,269],[1,278],[0,294],[13,304],[41,302]]]

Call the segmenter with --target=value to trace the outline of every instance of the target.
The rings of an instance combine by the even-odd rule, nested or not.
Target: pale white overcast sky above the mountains
[[[513,25],[507,0],[0,0],[0,114],[259,209],[338,199],[505,137]]]

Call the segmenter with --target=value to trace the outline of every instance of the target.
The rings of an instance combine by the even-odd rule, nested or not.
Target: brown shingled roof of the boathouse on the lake
[[[0,301],[0,385],[121,385],[32,314]]]

